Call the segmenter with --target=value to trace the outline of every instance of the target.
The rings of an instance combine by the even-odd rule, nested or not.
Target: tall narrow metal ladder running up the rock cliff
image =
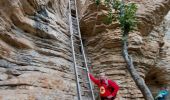
[[[78,100],[95,100],[93,87],[89,78],[89,69],[81,39],[76,0],[69,0],[69,28],[77,84]]]

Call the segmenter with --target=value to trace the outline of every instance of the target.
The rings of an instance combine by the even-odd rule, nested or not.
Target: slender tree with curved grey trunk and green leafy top
[[[98,2],[98,5],[101,3],[100,0],[96,0]],[[129,73],[131,74],[133,80],[135,81],[138,88],[141,90],[144,98],[146,100],[154,100],[152,93],[150,92],[148,86],[145,84],[143,78],[140,77],[138,72],[136,71],[132,57],[128,53],[128,34],[130,31],[133,31],[136,28],[136,11],[137,6],[134,3],[127,3],[124,4],[123,0],[105,0],[104,4],[109,7],[109,13],[108,13],[108,22],[112,23],[113,18],[117,18],[117,20],[120,23],[120,27],[122,30],[122,54],[123,57],[127,63],[127,69]],[[115,9],[114,14],[112,9]],[[116,17],[114,17],[114,15]]]

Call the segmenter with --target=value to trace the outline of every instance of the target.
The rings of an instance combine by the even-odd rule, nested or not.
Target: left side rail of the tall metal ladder
[[[75,57],[75,48],[74,48],[74,42],[73,42],[73,23],[72,23],[72,18],[71,18],[71,2],[69,0],[69,28],[70,28],[70,34],[71,34],[71,47],[72,47],[72,55],[73,55],[73,62],[74,62],[74,71],[75,71],[75,76],[76,76],[76,85],[77,85],[77,93],[78,93],[78,100],[82,100],[81,97],[81,90],[80,90],[80,84],[79,84],[79,78],[78,78],[78,71],[77,71],[77,64],[75,62],[76,57]]]

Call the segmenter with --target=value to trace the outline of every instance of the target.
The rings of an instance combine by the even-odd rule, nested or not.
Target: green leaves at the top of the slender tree
[[[136,27],[136,11],[137,6],[134,3],[122,4],[119,0],[105,0],[105,5],[109,7],[108,18],[105,23],[110,24],[114,18],[117,18],[121,25],[123,33],[134,30]],[[96,4],[100,4],[100,0],[96,0]],[[112,12],[115,9],[116,12]],[[116,13],[116,14],[113,14]],[[115,16],[113,16],[115,15]],[[118,16],[118,17],[117,17]]]

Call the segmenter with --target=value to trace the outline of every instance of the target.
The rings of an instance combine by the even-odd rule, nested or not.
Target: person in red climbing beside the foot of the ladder
[[[94,78],[89,73],[90,79],[99,87],[101,100],[114,100],[119,90],[119,86],[112,80],[107,79],[104,73],[99,75],[99,79]]]

